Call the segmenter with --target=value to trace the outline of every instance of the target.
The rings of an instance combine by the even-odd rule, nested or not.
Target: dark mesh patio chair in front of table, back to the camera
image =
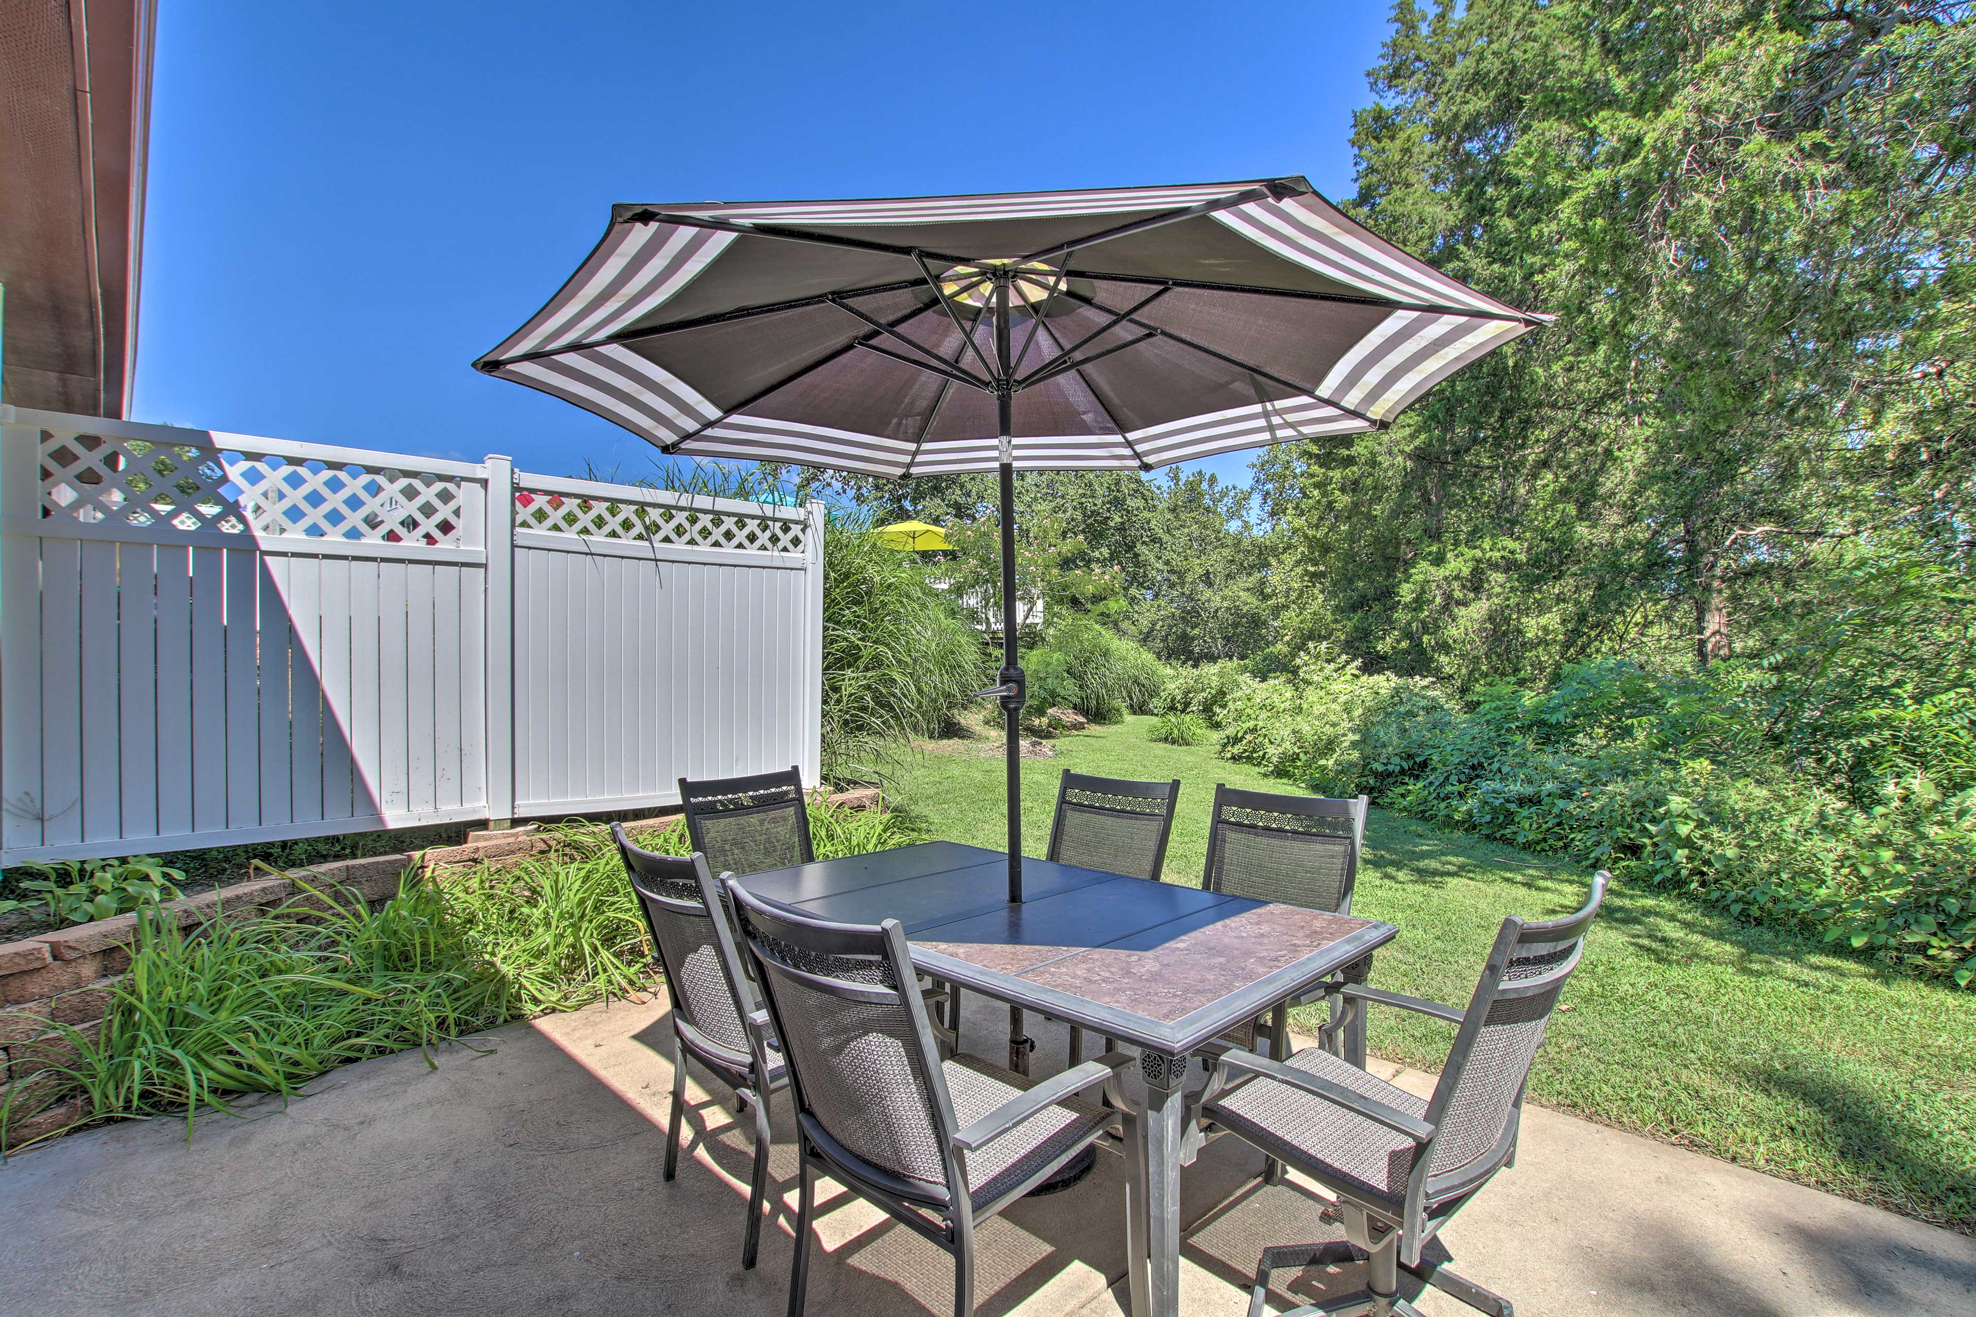
[[[1065,1161],[1124,1129],[1111,1054],[1029,1088],[978,1056],[941,1060],[899,920],[814,920],[727,881],[735,922],[788,1048],[802,1185],[788,1313],[802,1315],[816,1177],[927,1236],[954,1258],[954,1313],[974,1311],[974,1230]],[[1109,1086],[1107,1110],[1079,1098]]]

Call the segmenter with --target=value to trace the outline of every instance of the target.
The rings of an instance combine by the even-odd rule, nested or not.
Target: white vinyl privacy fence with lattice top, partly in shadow
[[[814,784],[820,527],[0,409],[0,863]]]

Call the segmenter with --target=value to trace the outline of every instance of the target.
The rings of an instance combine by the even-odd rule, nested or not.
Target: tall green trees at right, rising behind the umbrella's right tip
[[[1403,0],[1356,211],[1557,322],[1259,464],[1288,622],[1462,689],[1769,652],[1832,551],[1966,547],[1968,4]]]

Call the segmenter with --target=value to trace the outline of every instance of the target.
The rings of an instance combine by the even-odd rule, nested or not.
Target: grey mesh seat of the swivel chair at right
[[[1425,1100],[1324,1048],[1306,1046],[1284,1064],[1409,1116],[1427,1116]],[[1413,1173],[1413,1157],[1419,1151],[1419,1145],[1403,1133],[1271,1078],[1251,1078],[1229,1090],[1205,1110],[1205,1116],[1271,1155],[1314,1163],[1316,1169],[1330,1171],[1359,1193],[1395,1206],[1407,1193],[1407,1175]]]

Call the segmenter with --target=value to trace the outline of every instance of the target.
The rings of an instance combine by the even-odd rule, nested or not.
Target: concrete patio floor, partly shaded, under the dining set
[[[761,1266],[739,1266],[747,1133],[698,1106],[692,1157],[660,1181],[670,1084],[664,999],[494,1031],[437,1068],[403,1052],[338,1070],[249,1120],[121,1123],[0,1169],[0,1311],[781,1313],[792,1208]],[[968,1046],[998,1052],[1000,1011],[970,997]],[[1031,1025],[1031,1033],[1035,1033]],[[1061,1033],[1041,1037],[1061,1062]],[[1405,1084],[1427,1076],[1403,1074]],[[777,1129],[790,1127],[786,1104]],[[978,1311],[1124,1313],[1122,1159],[1024,1201],[980,1236]],[[1190,1315],[1235,1317],[1265,1244],[1320,1238],[1322,1201],[1233,1139],[1186,1181]],[[794,1153],[773,1173],[792,1195]],[[810,1313],[947,1313],[947,1256],[828,1193]],[[1518,1165],[1444,1234],[1456,1268],[1520,1313],[1812,1317],[1976,1309],[1976,1240],[1553,1112],[1523,1122]],[[1356,1287],[1278,1274],[1282,1307]],[[1441,1295],[1429,1313],[1466,1313]]]

